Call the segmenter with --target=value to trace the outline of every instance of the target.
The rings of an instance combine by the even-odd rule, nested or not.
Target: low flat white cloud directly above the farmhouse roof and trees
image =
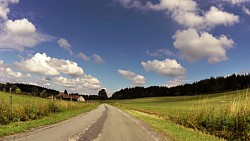
[[[71,88],[74,90],[82,90],[84,88],[91,89],[91,90],[98,90],[101,88],[100,81],[91,76],[91,75],[83,75],[78,78],[65,78],[63,76],[55,78],[56,83],[64,86],[65,88]]]

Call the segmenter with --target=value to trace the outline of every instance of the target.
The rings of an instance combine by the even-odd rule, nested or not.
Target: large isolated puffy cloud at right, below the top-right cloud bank
[[[208,58],[210,63],[227,60],[227,49],[233,47],[234,41],[225,35],[216,38],[207,32],[201,32],[189,28],[178,30],[173,36],[174,46],[180,50],[183,58],[188,61]]]

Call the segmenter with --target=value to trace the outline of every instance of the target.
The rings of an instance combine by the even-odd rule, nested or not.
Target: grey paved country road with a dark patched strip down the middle
[[[107,104],[59,124],[17,134],[4,141],[160,141],[159,134]]]

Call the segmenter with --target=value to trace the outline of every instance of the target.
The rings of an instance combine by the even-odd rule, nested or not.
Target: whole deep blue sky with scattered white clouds
[[[0,82],[109,95],[250,72],[250,0],[0,0]]]

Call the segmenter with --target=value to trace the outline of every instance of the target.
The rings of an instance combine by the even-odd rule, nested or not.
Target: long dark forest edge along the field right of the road
[[[209,79],[192,84],[184,84],[171,88],[165,86],[125,88],[115,92],[111,99],[213,94],[249,88],[249,85],[250,74],[233,74],[227,77],[210,77]]]

